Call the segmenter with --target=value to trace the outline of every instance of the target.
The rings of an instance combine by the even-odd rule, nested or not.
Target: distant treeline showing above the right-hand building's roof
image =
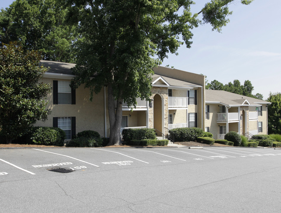
[[[252,92],[254,90],[254,86],[252,85],[251,81],[249,81],[249,80],[245,80],[244,85],[241,85],[240,81],[237,79],[233,80],[233,83],[229,82],[225,85],[223,85],[223,83],[220,83],[217,80],[213,80],[213,81],[211,81],[211,83],[207,83],[205,88],[212,89],[212,90],[223,90],[223,91],[227,91],[227,92],[236,93],[239,95],[257,98],[260,100],[263,99],[263,96],[260,93],[257,93],[255,95],[252,94]]]

